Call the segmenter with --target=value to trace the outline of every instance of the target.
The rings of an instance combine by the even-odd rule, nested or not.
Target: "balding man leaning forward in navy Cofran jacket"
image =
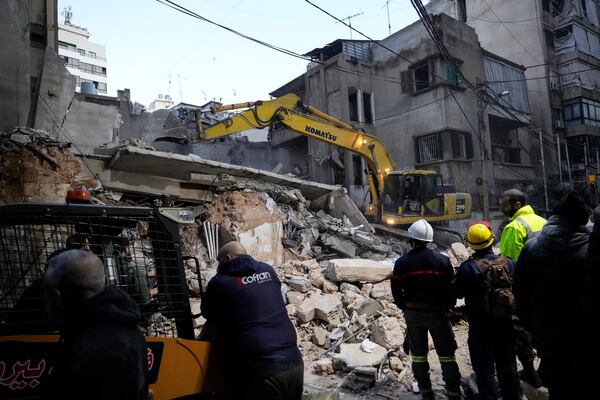
[[[217,260],[201,306],[218,332],[231,398],[301,399],[304,365],[277,274],[239,242],[223,246]]]

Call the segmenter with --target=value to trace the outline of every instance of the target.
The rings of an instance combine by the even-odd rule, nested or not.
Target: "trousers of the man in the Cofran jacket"
[[[285,371],[255,381],[229,387],[233,393],[228,400],[301,400],[304,387],[304,364],[295,365]]]

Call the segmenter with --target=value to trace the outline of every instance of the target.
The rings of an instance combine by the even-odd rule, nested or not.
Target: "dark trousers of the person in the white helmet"
[[[407,309],[404,310],[404,318],[406,320],[408,344],[412,353],[412,370],[423,395],[431,392],[429,363],[427,362],[429,351],[427,333],[429,332],[442,366],[442,376],[446,384],[448,397],[459,396],[460,372],[454,357],[456,340],[454,340],[449,315],[444,312]]]

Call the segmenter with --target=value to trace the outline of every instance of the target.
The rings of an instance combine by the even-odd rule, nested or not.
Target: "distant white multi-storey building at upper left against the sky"
[[[76,79],[76,90],[82,83],[93,85],[98,94],[108,93],[106,47],[94,43],[87,29],[70,23],[58,25],[58,54],[65,60],[67,70]],[[86,84],[84,83],[84,86]]]

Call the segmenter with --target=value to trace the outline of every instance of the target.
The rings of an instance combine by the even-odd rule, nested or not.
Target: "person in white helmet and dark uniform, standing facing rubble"
[[[454,352],[456,341],[449,311],[454,269],[448,257],[427,248],[433,228],[420,219],[408,228],[412,249],[394,265],[391,286],[394,301],[404,311],[412,370],[423,399],[434,399],[429,378],[428,333],[442,365],[448,399],[460,398],[460,372]]]

